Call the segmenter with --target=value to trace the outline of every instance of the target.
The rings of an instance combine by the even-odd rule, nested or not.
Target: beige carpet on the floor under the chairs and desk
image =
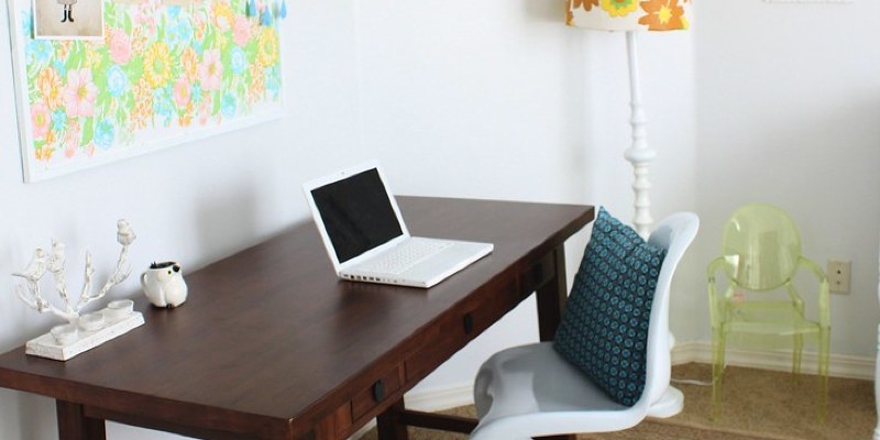
[[[708,365],[673,367],[672,377],[708,382]],[[620,432],[580,435],[579,440],[857,440],[871,439],[877,414],[873,382],[831,378],[828,418],[816,418],[816,380],[803,375],[728,367],[725,373],[722,418],[710,419],[712,388],[678,383],[684,393],[684,410],[669,419],[648,419]],[[473,416],[473,407],[452,414]],[[466,439],[466,436],[410,428],[411,440]],[[375,429],[363,440],[375,440]],[[499,439],[504,440],[504,439]]]

